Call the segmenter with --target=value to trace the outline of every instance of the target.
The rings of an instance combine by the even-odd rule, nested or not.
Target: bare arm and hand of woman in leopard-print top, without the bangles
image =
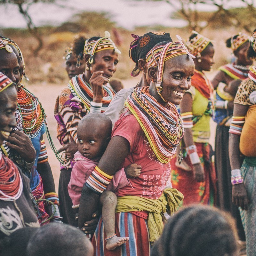
[[[248,105],[234,104],[234,116],[245,116],[248,110]],[[231,165],[231,170],[240,169],[240,136],[237,134],[229,134],[228,153]],[[247,210],[249,200],[244,183],[232,185],[232,201],[236,206],[241,206]]]

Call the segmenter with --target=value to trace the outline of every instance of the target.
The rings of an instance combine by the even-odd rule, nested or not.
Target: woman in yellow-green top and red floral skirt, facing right
[[[213,88],[203,73],[210,71],[213,65],[214,48],[211,40],[193,31],[186,43],[188,50],[196,56],[195,74],[191,87],[184,94],[180,104],[184,122],[184,142],[186,146],[185,162],[191,171],[185,171],[171,161],[172,186],[184,195],[184,204],[215,203],[216,174],[211,159],[210,119],[214,113]]]

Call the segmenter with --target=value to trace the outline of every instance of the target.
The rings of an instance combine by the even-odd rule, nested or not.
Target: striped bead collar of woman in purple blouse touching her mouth
[[[93,92],[91,85],[84,80],[83,74],[74,76],[69,81],[68,88],[73,95],[78,97],[84,103],[84,106],[90,110]],[[104,97],[102,98],[101,112],[103,113],[107,110],[110,101],[115,96],[115,92],[106,85],[103,85],[102,88],[104,90]]]

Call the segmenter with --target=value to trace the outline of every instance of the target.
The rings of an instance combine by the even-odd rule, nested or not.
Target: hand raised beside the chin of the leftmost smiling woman
[[[28,163],[32,163],[36,159],[36,150],[24,132],[14,131],[10,134],[6,145],[16,150],[20,156]]]

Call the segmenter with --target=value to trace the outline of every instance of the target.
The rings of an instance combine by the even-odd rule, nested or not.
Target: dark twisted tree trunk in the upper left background
[[[38,44],[35,49],[33,49],[34,54],[37,55],[40,49],[43,47],[43,39],[35,24],[33,23],[31,16],[28,13],[28,9],[32,4],[39,2],[43,3],[54,3],[55,0],[0,0],[0,4],[14,4],[18,7],[20,14],[23,16],[27,23],[29,32],[35,37]]]

